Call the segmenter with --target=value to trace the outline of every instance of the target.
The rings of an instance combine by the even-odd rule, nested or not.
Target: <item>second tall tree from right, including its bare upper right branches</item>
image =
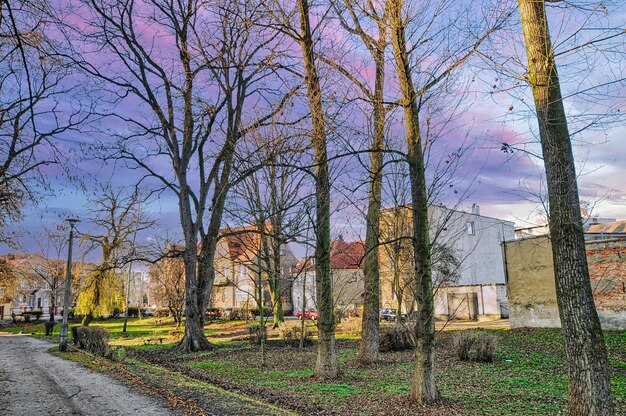
[[[477,38],[460,41],[461,39],[455,39],[452,34],[454,24],[462,23],[452,13],[455,11],[453,2],[422,4],[419,11],[414,10],[414,6],[415,4],[404,3],[403,0],[390,1],[389,25],[401,95],[400,106],[404,110],[406,160],[411,183],[413,223],[411,238],[415,261],[413,285],[417,304],[416,363],[411,398],[421,403],[432,403],[439,399],[439,392],[434,378],[435,323],[428,218],[429,195],[420,116],[436,87],[445,83],[450,74],[478,50],[508,15],[497,14],[493,22],[486,22]],[[461,11],[459,16],[465,12],[467,10]],[[448,15],[448,20],[442,22],[441,17],[444,15]],[[434,39],[439,39],[442,43],[434,42]],[[408,42],[417,46],[409,48]],[[419,64],[424,59],[433,60],[427,71],[419,70]]]

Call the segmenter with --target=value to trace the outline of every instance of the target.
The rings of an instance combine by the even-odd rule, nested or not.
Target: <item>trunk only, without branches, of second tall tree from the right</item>
[[[414,288],[417,301],[415,324],[416,357],[411,399],[419,403],[439,400],[435,385],[435,320],[428,230],[428,193],[424,153],[419,127],[419,109],[407,52],[402,0],[392,0],[390,8],[391,43],[404,107],[413,216]]]

